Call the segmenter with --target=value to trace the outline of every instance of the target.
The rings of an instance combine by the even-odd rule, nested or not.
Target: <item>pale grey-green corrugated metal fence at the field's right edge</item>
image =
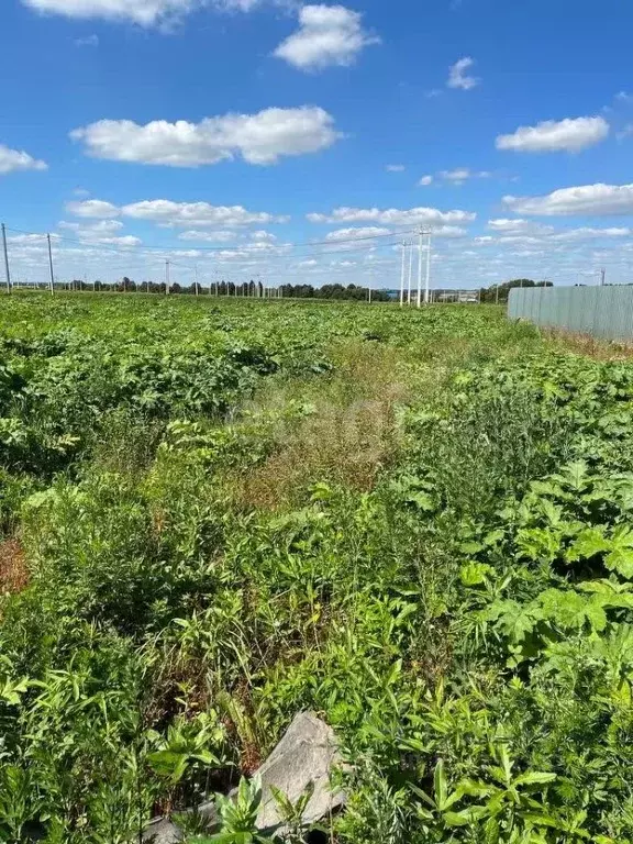
[[[633,340],[633,287],[515,287],[510,320],[608,340]]]

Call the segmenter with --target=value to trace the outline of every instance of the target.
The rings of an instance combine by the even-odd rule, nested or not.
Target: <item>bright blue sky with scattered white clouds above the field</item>
[[[570,0],[4,0],[13,273],[628,281],[633,9]]]

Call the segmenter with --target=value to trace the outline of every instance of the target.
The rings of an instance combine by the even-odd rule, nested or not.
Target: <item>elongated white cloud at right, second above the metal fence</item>
[[[545,120],[535,126],[519,126],[511,135],[499,135],[497,149],[517,153],[578,153],[599,144],[609,134],[604,118],[566,118]]]

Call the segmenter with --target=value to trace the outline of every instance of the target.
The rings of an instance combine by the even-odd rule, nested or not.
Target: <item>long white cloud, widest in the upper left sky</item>
[[[248,164],[325,149],[341,137],[323,109],[265,109],[257,114],[224,114],[200,123],[101,120],[70,133],[88,155],[114,162],[199,167],[241,155]]]

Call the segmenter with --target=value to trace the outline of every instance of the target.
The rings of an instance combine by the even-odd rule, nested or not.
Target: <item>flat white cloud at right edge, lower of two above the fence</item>
[[[581,185],[543,197],[508,196],[502,202],[514,213],[542,216],[632,214],[633,185]]]

